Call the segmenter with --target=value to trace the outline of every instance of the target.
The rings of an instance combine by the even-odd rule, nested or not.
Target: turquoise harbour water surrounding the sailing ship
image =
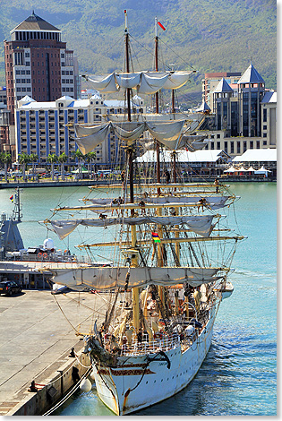
[[[235,291],[220,306],[209,354],[201,369],[175,397],[137,416],[274,416],[277,413],[277,208],[274,183],[232,185],[241,196],[235,203],[236,220],[248,239],[235,253],[231,275]],[[88,188],[40,188],[22,192],[25,245],[42,244],[46,236],[66,248],[35,221],[50,216],[58,202],[73,204]],[[12,190],[0,190],[0,211],[12,211]],[[47,235],[48,234],[48,235]],[[82,235],[83,233],[81,233]],[[90,236],[90,234],[89,234]],[[80,242],[70,239],[70,248]],[[108,416],[95,387],[77,391],[53,415]]]

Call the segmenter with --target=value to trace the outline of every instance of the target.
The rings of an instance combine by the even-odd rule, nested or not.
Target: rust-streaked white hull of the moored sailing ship
[[[100,400],[116,415],[126,415],[150,407],[182,391],[197,374],[206,357],[213,332],[215,313],[190,348],[182,350],[180,343],[174,349],[133,357],[120,357],[117,368],[105,365],[94,367],[95,382]],[[148,361],[156,358],[155,361]],[[122,363],[124,362],[124,365]]]

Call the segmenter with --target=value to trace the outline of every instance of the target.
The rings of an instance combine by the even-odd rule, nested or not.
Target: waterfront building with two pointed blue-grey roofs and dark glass
[[[213,114],[197,132],[210,140],[207,149],[235,157],[249,149],[276,148],[277,93],[265,88],[253,64],[237,83],[222,78],[210,96]]]

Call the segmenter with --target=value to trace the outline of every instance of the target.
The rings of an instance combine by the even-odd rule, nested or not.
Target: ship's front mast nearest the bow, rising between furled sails
[[[125,65],[126,65],[126,72],[130,73],[130,61],[129,61],[129,33],[127,30],[127,13],[124,10],[124,18],[125,18],[125,28],[124,28],[124,35],[125,35]],[[126,89],[126,97],[127,97],[127,120],[132,121],[131,116],[131,106],[130,106],[130,89]],[[134,185],[133,185],[133,162],[132,162],[132,147],[127,148],[127,160],[129,166],[129,189],[130,189],[130,202],[134,202]],[[132,216],[134,215],[134,209],[131,211]],[[132,247],[136,246],[137,236],[136,236],[136,227],[131,227],[132,231]],[[138,255],[132,254],[132,267],[138,266]],[[135,331],[139,330],[140,322],[139,322],[139,288],[132,288],[132,314],[133,314],[133,326]]]

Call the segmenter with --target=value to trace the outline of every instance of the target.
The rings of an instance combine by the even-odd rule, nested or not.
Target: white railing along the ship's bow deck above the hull
[[[122,345],[121,355],[136,356],[141,354],[155,353],[158,351],[169,351],[180,347],[180,335],[167,336],[154,340],[139,342],[136,339],[132,340],[132,344],[124,343]]]

